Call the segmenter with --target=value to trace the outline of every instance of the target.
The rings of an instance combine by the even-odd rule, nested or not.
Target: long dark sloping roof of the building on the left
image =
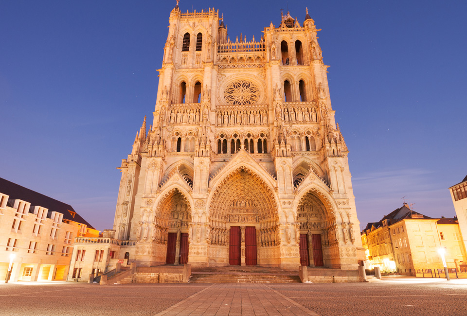
[[[0,178],[0,193],[9,195],[9,199],[23,200],[31,203],[32,206],[41,206],[49,209],[49,213],[56,211],[63,214],[63,219],[69,221],[86,224],[89,228],[95,229],[90,225],[84,218],[82,218],[76,211],[73,210],[72,206],[60,201],[53,199],[47,195],[37,193],[36,191],[22,187],[14,182]],[[11,205],[10,205],[11,206]],[[32,211],[32,208],[30,209]],[[75,212],[74,217],[69,212]],[[47,217],[50,215],[47,214]]]

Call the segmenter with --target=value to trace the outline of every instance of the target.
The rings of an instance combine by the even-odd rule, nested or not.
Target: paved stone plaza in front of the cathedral
[[[331,284],[0,283],[0,315],[467,315],[467,280]]]

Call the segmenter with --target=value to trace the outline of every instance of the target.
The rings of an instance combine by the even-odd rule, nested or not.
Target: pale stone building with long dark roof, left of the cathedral
[[[75,237],[99,235],[71,205],[0,178],[0,281],[66,280]]]

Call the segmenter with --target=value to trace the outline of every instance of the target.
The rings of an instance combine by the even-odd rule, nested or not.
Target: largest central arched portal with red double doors
[[[279,217],[273,193],[251,170],[239,168],[217,186],[210,205],[209,229],[210,248],[227,250],[224,265],[280,263]]]

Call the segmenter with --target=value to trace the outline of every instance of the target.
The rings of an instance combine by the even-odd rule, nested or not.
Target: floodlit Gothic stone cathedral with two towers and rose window
[[[358,269],[348,148],[318,31],[306,10],[302,24],[287,12],[259,39],[232,39],[214,8],[175,6],[152,124],[118,168],[105,235],[119,258]]]

